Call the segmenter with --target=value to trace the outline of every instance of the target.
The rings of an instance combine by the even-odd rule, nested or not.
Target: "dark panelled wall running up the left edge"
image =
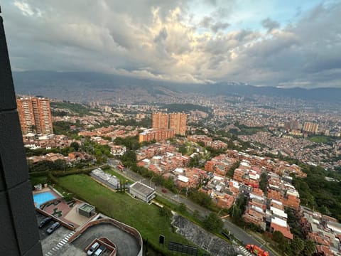
[[[43,255],[0,16],[0,255]]]

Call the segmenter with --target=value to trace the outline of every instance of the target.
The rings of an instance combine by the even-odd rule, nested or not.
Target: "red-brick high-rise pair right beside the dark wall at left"
[[[16,99],[19,121],[23,134],[53,134],[50,100],[43,97],[23,97]]]

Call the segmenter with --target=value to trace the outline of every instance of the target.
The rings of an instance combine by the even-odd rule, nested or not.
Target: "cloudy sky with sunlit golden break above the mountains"
[[[3,0],[13,71],[341,87],[341,1]]]

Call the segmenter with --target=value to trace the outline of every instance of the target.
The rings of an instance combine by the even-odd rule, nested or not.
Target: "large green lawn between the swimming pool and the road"
[[[171,220],[161,216],[157,206],[149,206],[125,193],[114,193],[85,174],[60,177],[58,185],[95,206],[98,212],[136,228],[144,239],[148,238],[148,242],[156,247],[160,234],[165,235],[166,242],[189,244],[181,235],[172,233]],[[165,249],[163,251],[166,252]],[[167,252],[167,255],[173,254]]]

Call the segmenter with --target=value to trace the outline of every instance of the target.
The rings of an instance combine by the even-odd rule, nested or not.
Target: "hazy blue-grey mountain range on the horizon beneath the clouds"
[[[322,102],[341,102],[341,88],[277,88],[255,87],[242,82],[218,82],[216,84],[187,84],[130,78],[102,73],[52,71],[13,72],[14,86],[18,94],[45,95],[77,102],[124,100],[129,96],[136,102],[153,102],[165,97],[177,97],[186,93],[205,95],[238,95],[251,97],[293,97]]]

